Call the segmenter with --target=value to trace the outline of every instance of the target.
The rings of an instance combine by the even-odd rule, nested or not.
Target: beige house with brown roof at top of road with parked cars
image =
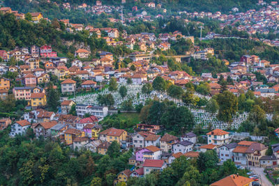
[[[246,158],[249,166],[260,166],[259,159],[266,154],[268,146],[263,144],[251,144],[246,150]]]

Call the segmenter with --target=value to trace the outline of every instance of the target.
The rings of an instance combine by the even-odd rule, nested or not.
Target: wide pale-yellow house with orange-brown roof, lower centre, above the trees
[[[99,138],[102,141],[117,141],[118,144],[121,144],[121,141],[126,141],[127,132],[123,129],[116,129],[114,127],[104,130],[99,133]]]

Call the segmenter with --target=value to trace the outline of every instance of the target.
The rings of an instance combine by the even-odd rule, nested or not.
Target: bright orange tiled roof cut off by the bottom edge
[[[227,176],[221,180],[216,181],[215,183],[212,183],[210,186],[252,186],[252,182],[254,180],[251,178],[246,178],[244,176],[239,176],[238,174],[232,174],[230,176]]]

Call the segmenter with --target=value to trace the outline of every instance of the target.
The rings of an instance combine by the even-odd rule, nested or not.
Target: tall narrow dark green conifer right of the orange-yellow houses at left
[[[50,108],[51,111],[57,111],[59,104],[59,92],[53,88],[53,84],[50,82],[47,88],[47,107]]]

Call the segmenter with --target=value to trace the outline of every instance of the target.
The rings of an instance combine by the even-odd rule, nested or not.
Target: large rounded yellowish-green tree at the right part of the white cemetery
[[[232,122],[232,117],[236,114],[238,107],[236,96],[229,91],[225,91],[217,95],[217,102],[220,107],[217,118],[220,121]]]

